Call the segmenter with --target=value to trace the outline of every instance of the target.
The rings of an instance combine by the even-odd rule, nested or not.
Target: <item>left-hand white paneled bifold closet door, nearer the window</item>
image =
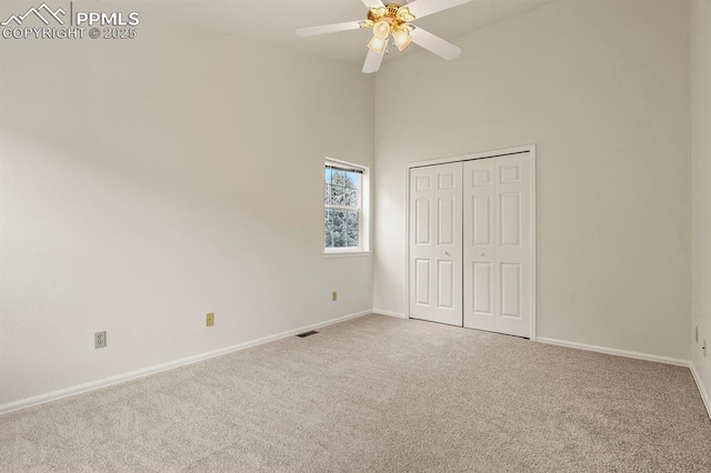
[[[462,325],[462,163],[410,170],[410,316]]]

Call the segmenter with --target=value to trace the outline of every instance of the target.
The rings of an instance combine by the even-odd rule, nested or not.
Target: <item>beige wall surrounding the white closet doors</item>
[[[690,359],[688,3],[561,0],[377,79],[377,309],[405,311],[405,163],[538,145],[538,335]]]

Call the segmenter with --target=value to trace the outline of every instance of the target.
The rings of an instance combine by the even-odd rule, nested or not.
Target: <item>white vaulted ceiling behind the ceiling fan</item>
[[[417,20],[415,24],[457,43],[457,38],[462,34],[551,1],[554,0],[474,0]],[[102,7],[121,10],[136,8],[164,17],[168,21],[359,64],[365,57],[365,44],[372,36],[370,30],[311,38],[296,34],[298,28],[364,19],[368,8],[360,0],[103,0],[101,3]],[[418,49],[412,47],[401,53],[391,48],[383,64]]]

